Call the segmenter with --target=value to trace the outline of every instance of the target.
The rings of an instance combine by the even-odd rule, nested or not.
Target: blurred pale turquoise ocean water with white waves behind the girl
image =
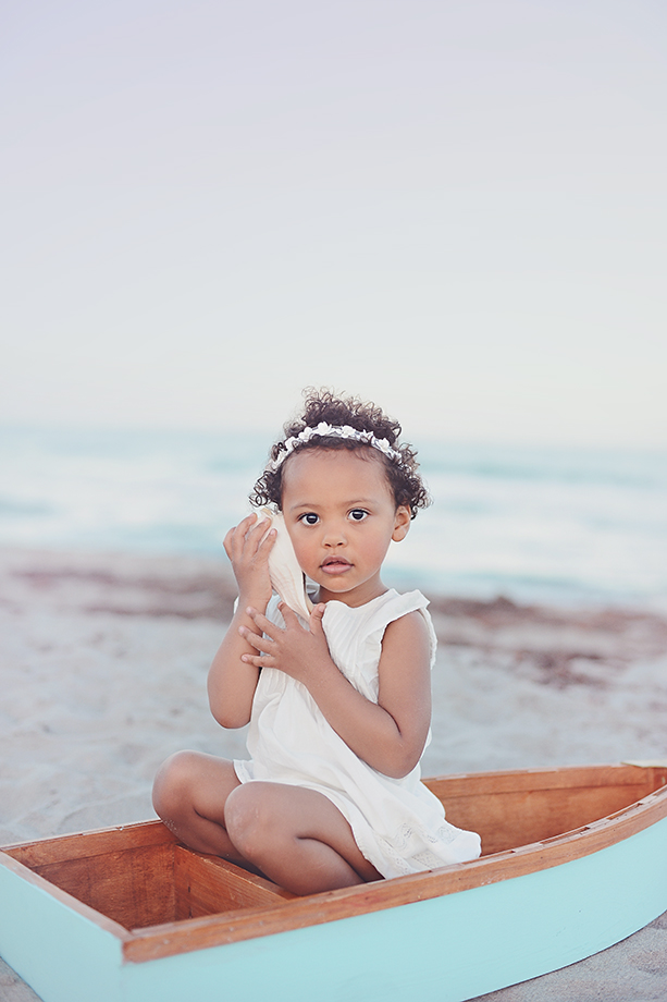
[[[265,435],[0,429],[0,545],[220,555]],[[397,587],[667,609],[667,452],[420,447],[433,505],[390,551]]]

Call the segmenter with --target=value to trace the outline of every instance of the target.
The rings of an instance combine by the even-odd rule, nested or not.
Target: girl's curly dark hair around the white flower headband
[[[376,454],[384,463],[396,506],[399,504],[408,506],[411,518],[415,518],[420,508],[428,508],[431,498],[419,474],[417,451],[411,445],[398,444],[402,431],[398,421],[387,417],[374,403],[366,403],[357,396],[342,396],[331,390],[316,390],[312,387],[304,390],[304,396],[306,403],[301,416],[285,424],[284,437],[271,449],[269,465],[250,494],[252,504],[258,506],[273,504],[280,511],[285,463],[281,463],[276,469],[273,469],[271,461],[275,461],[281,453],[285,452],[285,441],[288,438],[299,435],[305,428],[317,428],[320,421],[326,421],[333,426],[349,425],[357,431],[371,431],[375,438],[386,439],[398,456],[392,459],[372,445],[366,445],[356,439],[342,439],[325,435],[313,435],[307,442],[298,443],[294,452],[302,452],[306,449],[348,449]]]

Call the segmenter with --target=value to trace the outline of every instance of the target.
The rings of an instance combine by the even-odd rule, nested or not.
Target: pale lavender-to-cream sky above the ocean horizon
[[[0,423],[667,445],[664,0],[28,0],[0,81]]]

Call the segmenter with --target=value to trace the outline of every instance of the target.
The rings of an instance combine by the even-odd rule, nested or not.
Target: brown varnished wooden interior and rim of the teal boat
[[[238,866],[187,850],[160,821],[24,843],[2,855],[89,917],[95,913],[98,924],[123,939],[126,958],[140,961],[465,890],[480,882],[480,867],[491,882],[557,865],[572,853],[610,844],[619,823],[621,838],[646,827],[646,810],[655,814],[658,798],[659,812],[667,815],[667,763],[490,772],[425,783],[454,824],[480,832],[480,860],[298,899]],[[547,848],[553,852],[545,864]]]

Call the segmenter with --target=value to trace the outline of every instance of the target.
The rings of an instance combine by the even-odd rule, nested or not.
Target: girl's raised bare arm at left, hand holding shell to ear
[[[265,612],[271,598],[268,560],[275,531],[264,537],[265,529],[265,523],[262,528],[257,516],[249,515],[230,529],[224,540],[238,584],[239,599],[208,676],[209,706],[223,728],[243,728],[250,720],[259,669],[242,661],[242,656],[256,655],[257,648],[242,636],[239,630],[248,631],[256,640],[261,638],[261,631],[246,609],[252,606]]]

